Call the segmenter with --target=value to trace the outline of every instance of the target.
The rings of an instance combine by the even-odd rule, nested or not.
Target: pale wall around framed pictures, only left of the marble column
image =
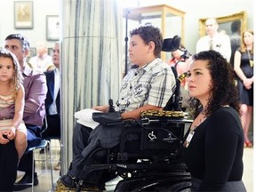
[[[14,28],[14,0],[0,0],[0,47],[4,46],[4,38],[13,33],[21,33],[28,38],[31,47],[36,47],[37,41],[46,41],[46,15],[59,15],[61,0],[36,0],[33,1],[34,28]],[[52,47],[54,41],[47,41]]]

